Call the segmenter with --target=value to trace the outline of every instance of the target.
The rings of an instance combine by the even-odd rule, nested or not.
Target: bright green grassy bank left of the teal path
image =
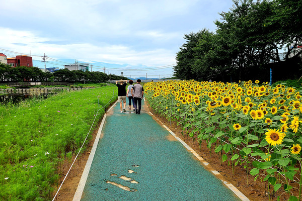
[[[94,127],[116,95],[105,86],[0,106],[0,200],[51,199],[56,167],[82,146],[98,108],[109,103]]]

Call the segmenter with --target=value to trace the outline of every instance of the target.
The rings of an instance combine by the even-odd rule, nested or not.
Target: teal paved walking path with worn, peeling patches
[[[140,115],[121,114],[119,104],[110,110],[83,177],[73,200],[241,200],[144,105]]]

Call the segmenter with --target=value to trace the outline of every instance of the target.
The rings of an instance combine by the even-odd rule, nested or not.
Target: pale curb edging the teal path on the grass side
[[[109,108],[109,110],[107,110],[106,113],[108,113],[108,112],[115,106],[116,103],[117,103],[117,102],[115,102],[115,103]],[[77,191],[75,191],[72,201],[80,201],[81,198],[82,198],[82,194],[83,194],[84,187],[85,187],[85,184],[86,184],[86,181],[87,181],[87,177],[88,177],[88,174],[89,174],[89,171],[90,171],[90,167],[91,167],[91,164],[92,164],[94,155],[95,155],[95,153],[96,153],[96,149],[97,149],[97,147],[98,147],[98,143],[99,143],[100,136],[101,136],[101,133],[102,133],[102,130],[103,130],[103,126],[104,126],[104,123],[105,123],[105,120],[106,120],[106,117],[107,117],[106,113],[104,114],[104,117],[103,117],[103,119],[102,119],[102,123],[101,123],[101,125],[100,125],[100,127],[99,127],[98,134],[97,134],[97,136],[96,136],[96,139],[95,139],[94,144],[93,144],[93,146],[92,146],[92,149],[91,149],[91,151],[90,151],[90,154],[89,154],[88,160],[87,160],[87,162],[86,162],[86,165],[85,165],[83,174],[82,174],[82,176],[81,176],[81,179],[80,179],[80,182],[79,182]]]

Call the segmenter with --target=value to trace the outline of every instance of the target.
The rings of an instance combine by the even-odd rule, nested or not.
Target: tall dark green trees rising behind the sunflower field
[[[203,29],[185,35],[186,43],[176,57],[176,77],[230,81],[231,76],[242,79],[247,68],[261,71],[268,63],[285,61],[282,65],[288,69],[287,61],[298,61],[302,48],[292,47],[301,46],[302,1],[234,0],[233,3],[229,12],[220,13],[221,21],[214,22],[215,33]],[[297,52],[291,54],[294,51]],[[223,80],[225,77],[228,80]]]

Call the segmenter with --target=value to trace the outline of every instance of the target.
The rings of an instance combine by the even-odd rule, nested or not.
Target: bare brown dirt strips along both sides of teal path
[[[144,105],[145,106],[145,105]],[[177,137],[181,138],[185,143],[187,143],[194,151],[196,151],[204,160],[206,160],[216,171],[218,171],[226,181],[229,181],[232,183],[235,187],[237,187],[243,194],[245,194],[250,200],[253,201],[263,201],[268,200],[268,192],[267,192],[267,181],[262,181],[258,177],[256,181],[254,181],[254,176],[249,175],[249,183],[247,184],[247,173],[246,169],[243,168],[243,166],[235,166],[235,175],[232,173],[232,165],[229,166],[227,162],[222,163],[220,165],[219,162],[219,155],[214,152],[212,149],[211,151],[211,157],[209,153],[209,149],[206,146],[206,143],[203,142],[201,144],[201,149],[199,150],[199,145],[197,141],[192,141],[190,137],[183,137],[181,134],[181,129],[179,126],[170,124],[165,118],[160,117],[159,114],[156,114],[152,109],[143,107],[142,112],[152,112],[162,123],[164,123],[171,131],[173,131]],[[101,122],[99,122],[98,128],[100,126]],[[90,154],[90,150],[92,149],[93,143],[95,141],[97,135],[97,131],[94,131],[93,133],[93,139],[89,142],[89,147],[87,151],[77,159],[77,161],[74,163],[73,167],[71,168],[69,174],[67,175],[62,187],[59,190],[59,193],[55,200],[62,200],[62,201],[68,201],[73,199],[73,195],[75,191],[78,188],[78,184],[80,182],[82,173],[84,171],[87,159]],[[231,156],[229,156],[230,158]],[[72,159],[73,161],[73,159]],[[60,179],[60,183],[65,177],[65,174],[67,173],[70,165],[72,162],[66,161],[65,162],[65,169],[63,171],[63,175]],[[252,166],[250,169],[253,168]],[[293,185],[293,183],[290,183],[290,185]],[[272,187],[272,186],[270,186]],[[283,188],[283,185],[282,187]],[[280,189],[281,189],[280,188]],[[57,189],[57,188],[55,188]],[[271,196],[270,200],[277,200],[277,196],[281,195],[280,200],[287,200],[288,196],[284,191],[278,190],[273,194],[273,197]],[[56,190],[54,194],[56,193]],[[54,195],[53,194],[53,195]]]

